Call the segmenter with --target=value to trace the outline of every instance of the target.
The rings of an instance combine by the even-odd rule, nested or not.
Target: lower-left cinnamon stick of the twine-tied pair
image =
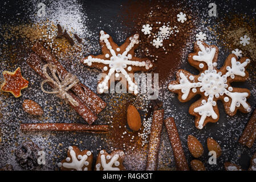
[[[40,59],[38,55],[35,53],[31,53],[29,57],[27,58],[27,64],[30,65],[34,71],[41,76],[43,79],[46,79],[46,77],[43,75],[43,61]],[[52,88],[54,88],[54,85],[52,83],[48,83]],[[71,91],[68,91],[68,94],[70,94],[75,101],[78,102],[78,106],[73,106],[70,102],[68,104],[88,123],[92,124],[97,117],[92,113],[90,109],[82,101],[79,100],[78,97],[75,96]]]

